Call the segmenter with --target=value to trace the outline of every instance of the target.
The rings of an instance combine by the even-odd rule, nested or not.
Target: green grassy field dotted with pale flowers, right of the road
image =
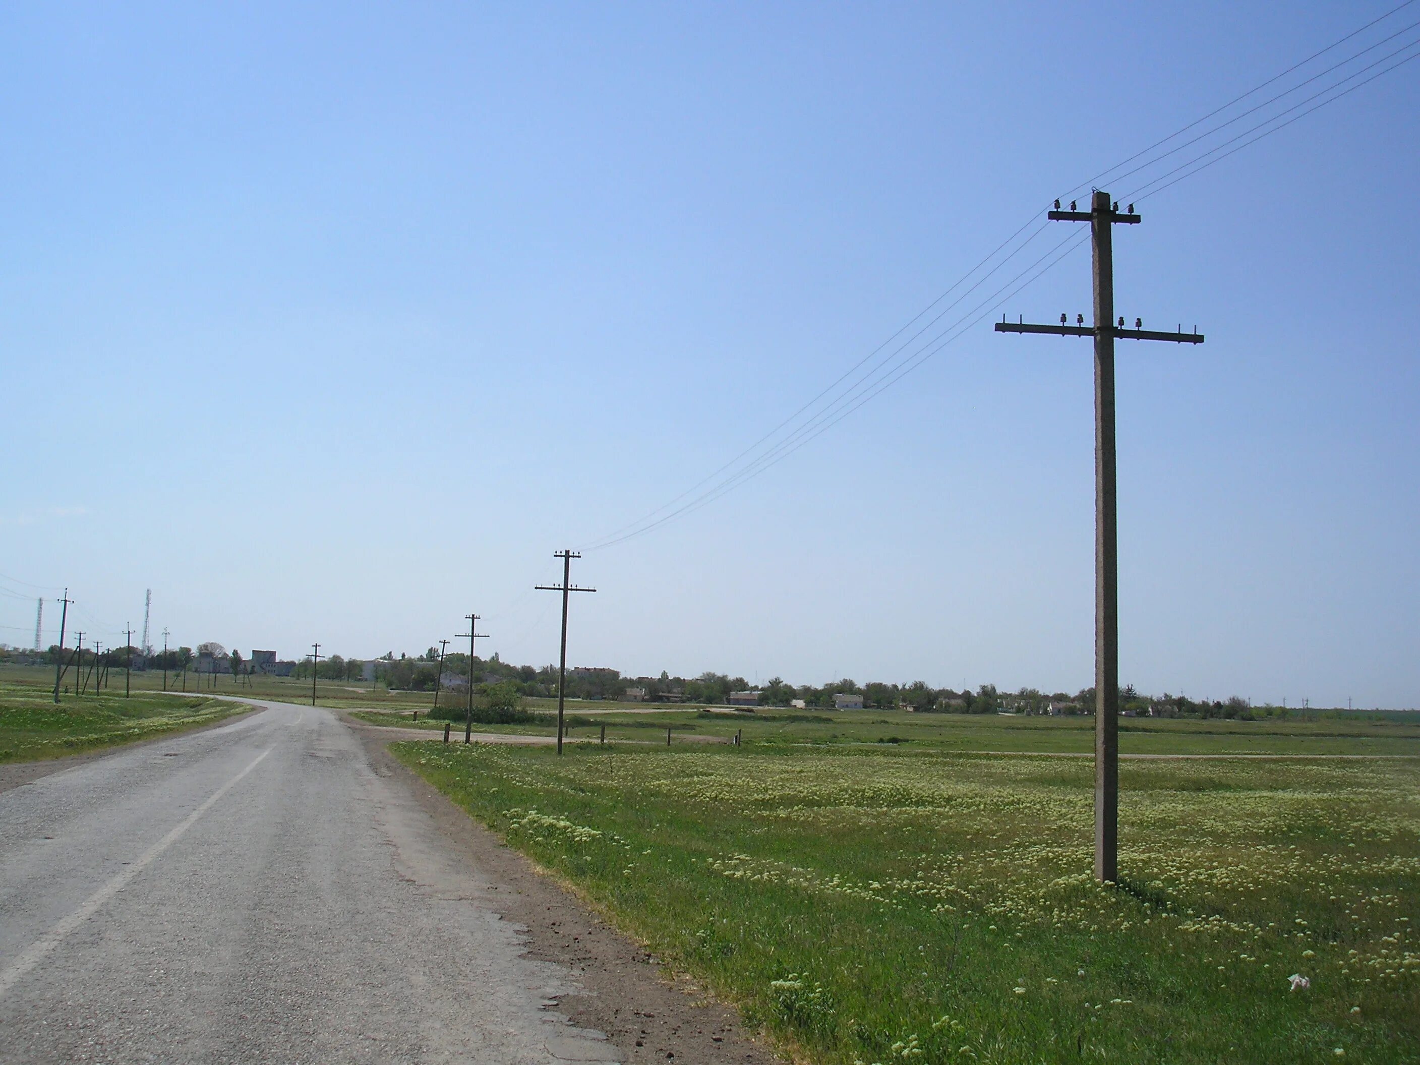
[[[1420,761],[395,750],[812,1061],[1420,1059]]]

